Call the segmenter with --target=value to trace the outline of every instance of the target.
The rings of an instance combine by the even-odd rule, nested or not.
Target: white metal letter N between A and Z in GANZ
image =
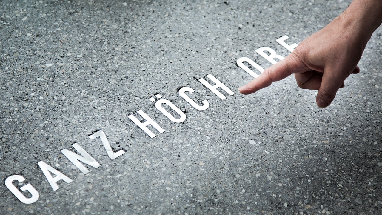
[[[101,165],[92,158],[81,146],[78,145],[78,143],[74,143],[72,145],[81,155],[78,155],[74,153],[73,151],[69,151],[67,149],[61,150],[61,152],[68,158],[74,166],[76,166],[79,170],[81,170],[82,173],[87,174],[89,173],[89,169],[87,169],[81,162],[86,163],[87,165],[90,165],[94,168],[99,168]]]

